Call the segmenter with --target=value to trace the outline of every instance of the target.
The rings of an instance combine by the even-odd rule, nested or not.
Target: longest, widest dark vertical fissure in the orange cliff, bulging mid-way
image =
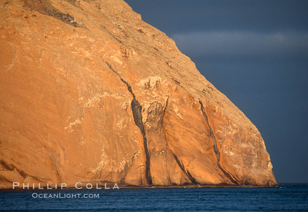
[[[150,154],[148,151],[148,140],[144,131],[144,124],[142,122],[142,106],[140,105],[139,101],[136,99],[135,94],[132,92],[132,87],[128,84],[128,82],[126,82],[121,75],[115,71],[111,65],[108,62],[105,62],[108,67],[116,74],[120,77],[120,80],[122,82],[124,82],[124,84],[127,86],[128,91],[132,94],[133,96],[133,100],[132,100],[132,113],[134,116],[134,121],[135,124],[137,125],[137,127],[140,129],[140,132],[142,134],[143,137],[143,145],[144,145],[144,152],[145,152],[145,158],[146,158],[146,163],[145,163],[145,176],[146,176],[146,180],[147,183],[149,185],[152,185],[152,177],[151,177],[151,173],[150,173]]]

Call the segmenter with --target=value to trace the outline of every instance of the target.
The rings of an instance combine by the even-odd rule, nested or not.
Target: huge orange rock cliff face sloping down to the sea
[[[1,188],[277,185],[257,128],[124,1],[0,16]]]

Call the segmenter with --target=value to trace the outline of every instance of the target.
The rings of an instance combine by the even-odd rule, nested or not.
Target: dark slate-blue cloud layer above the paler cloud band
[[[167,35],[187,31],[308,31],[308,1],[127,0],[134,11]]]

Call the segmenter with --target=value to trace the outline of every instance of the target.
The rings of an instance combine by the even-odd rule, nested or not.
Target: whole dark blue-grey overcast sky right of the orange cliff
[[[278,182],[308,182],[308,1],[126,2],[256,125]]]

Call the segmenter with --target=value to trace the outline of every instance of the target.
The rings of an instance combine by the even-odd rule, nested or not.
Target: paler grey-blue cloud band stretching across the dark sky
[[[308,56],[308,33],[201,31],[171,35],[190,56]]]

